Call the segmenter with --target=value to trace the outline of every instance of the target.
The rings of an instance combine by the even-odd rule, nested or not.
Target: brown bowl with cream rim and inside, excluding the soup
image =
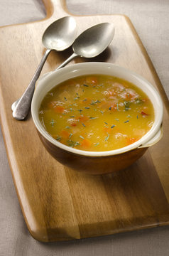
[[[141,90],[143,90],[143,92],[146,92],[146,95],[148,95],[148,97],[151,99],[151,102],[153,103],[155,111],[155,121],[153,123],[153,127],[151,127],[151,130],[148,131],[137,142],[134,142],[133,144],[125,146],[121,149],[110,151],[82,151],[79,149],[74,149],[72,147],[66,146],[65,144],[62,144],[53,139],[53,137],[50,137],[48,132],[46,132],[43,126],[41,125],[40,119],[38,117],[38,110],[40,107],[40,103],[43,100],[43,97],[45,97],[47,92],[50,91],[53,87],[60,84],[60,82],[63,82],[64,80],[68,80],[70,78],[75,78],[80,75],[89,74],[112,75],[119,78],[123,78],[124,80],[132,82],[137,87],[140,87]],[[70,166],[73,169],[83,170],[91,174],[109,173],[111,171],[117,171],[121,168],[126,168],[126,166],[132,164],[133,161],[127,161],[127,163],[124,163],[124,166],[122,167],[121,164],[119,164],[119,167],[112,167],[110,166],[110,156],[114,156],[114,159],[116,159],[115,156],[118,156],[117,158],[119,159],[119,155],[122,154],[122,156],[124,156],[124,153],[135,150],[137,151],[138,157],[140,157],[142,154],[138,154],[139,151],[140,153],[141,151],[144,153],[148,146],[152,146],[153,144],[158,142],[158,140],[162,136],[161,125],[163,122],[163,103],[157,90],[153,87],[153,85],[151,85],[150,82],[142,78],[140,75],[130,70],[126,70],[126,68],[122,68],[111,63],[78,63],[45,74],[43,78],[41,78],[37,83],[36,91],[33,95],[31,112],[33,122],[36,125],[38,134],[40,135],[40,139],[42,140],[43,144],[45,145],[46,149],[50,152],[50,154],[52,154],[55,157],[55,159],[60,161],[62,164],[66,164],[67,166]],[[78,158],[85,159],[85,163],[87,162],[88,164],[84,164],[84,168],[82,168],[82,164],[80,164],[79,161],[77,161],[77,164],[75,162],[71,164],[70,156],[76,156],[75,161],[77,161]],[[129,154],[127,154],[126,157],[129,157]],[[136,161],[138,157],[133,157],[133,160]],[[101,162],[103,162],[103,159],[107,159],[108,166],[103,166],[102,168],[104,168],[104,170],[102,171],[101,167],[99,168],[98,164],[99,171],[97,171],[92,165],[94,159],[97,159],[96,162],[98,163],[99,159],[102,159],[102,161],[100,160],[100,164]],[[78,164],[80,165],[78,166]],[[92,171],[93,168],[94,171]],[[107,170],[105,171],[105,169]]]

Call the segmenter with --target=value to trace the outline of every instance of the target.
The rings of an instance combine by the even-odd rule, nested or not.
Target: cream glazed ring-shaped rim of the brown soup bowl
[[[92,72],[92,70],[94,69],[96,70],[97,68],[102,70],[102,73],[99,72],[98,74],[104,75],[106,73],[106,71],[104,70],[109,69],[109,70],[112,70],[113,72],[115,70],[115,72],[117,73],[118,72],[123,73],[123,75],[121,75],[121,78],[126,75],[127,77],[129,76],[133,80],[138,80],[139,82],[143,83],[143,86],[146,87],[146,90],[149,90],[152,93],[151,95],[152,98],[156,97],[156,100],[157,100],[156,103],[158,104],[158,112],[156,112],[155,114],[155,122],[153,124],[153,127],[151,127],[151,129],[143,137],[141,137],[141,139],[139,139],[137,142],[134,142],[133,144],[130,144],[129,146],[124,146],[123,148],[109,150],[109,151],[85,151],[85,150],[75,149],[70,146],[66,146],[65,144],[62,144],[61,142],[58,142],[57,140],[53,139],[53,137],[51,137],[50,134],[48,134],[48,132],[45,131],[42,124],[40,123],[40,119],[38,118],[37,105],[38,106],[40,105],[41,100],[43,99],[43,97],[48,91],[50,91],[53,87],[59,85],[60,82],[70,79],[70,78],[65,78],[65,75],[68,75],[68,76],[71,75],[72,77],[75,77],[75,76],[80,76],[81,73],[82,75],[84,74],[87,75],[87,73],[89,74],[90,72],[91,72],[90,74],[97,74],[98,71]],[[87,72],[87,70],[89,71]],[[114,76],[114,74],[112,74],[112,76]],[[59,78],[60,82],[56,82],[55,85],[50,85],[50,82],[55,78],[56,79]],[[44,88],[45,88],[45,92],[42,92],[42,89]],[[145,90],[143,91],[145,92]],[[42,99],[40,98],[40,94]],[[148,95],[148,97],[150,96]],[[151,102],[152,102],[152,98],[151,98]],[[153,104],[153,107],[155,108],[154,104]],[[61,68],[49,73],[45,73],[45,75],[43,75],[43,77],[38,80],[36,91],[34,92],[33,100],[31,102],[31,114],[32,114],[33,122],[36,125],[36,129],[38,129],[38,132],[40,132],[40,134],[43,137],[45,137],[45,139],[47,139],[48,142],[52,143],[55,146],[58,146],[60,149],[69,151],[72,154],[83,155],[83,156],[112,156],[117,154],[123,154],[126,151],[131,151],[133,149],[137,149],[140,146],[143,147],[144,144],[148,143],[149,140],[151,140],[153,137],[156,136],[163,122],[163,102],[156,88],[153,87],[153,85],[150,82],[148,82],[148,80],[143,78],[141,75],[138,75],[137,73],[133,72],[132,70],[126,69],[124,67],[121,67],[120,65],[115,65],[112,63],[102,63],[102,62],[76,63],[76,64],[68,65],[65,68]]]

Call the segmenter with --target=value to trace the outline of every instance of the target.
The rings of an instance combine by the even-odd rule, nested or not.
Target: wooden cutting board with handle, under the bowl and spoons
[[[1,127],[28,230],[33,238],[48,242],[168,225],[168,99],[129,18],[74,16],[78,34],[96,23],[114,23],[114,40],[108,50],[93,60],[136,71],[160,92],[164,134],[156,146],[124,171],[87,176],[65,168],[45,151],[31,114],[23,122],[13,119],[11,104],[26,89],[43,56],[43,31],[55,19],[71,15],[65,1],[45,0],[44,4],[47,16],[43,21],[0,28]],[[71,52],[69,49],[50,53],[43,73],[57,68]],[[75,63],[93,60],[77,58]]]

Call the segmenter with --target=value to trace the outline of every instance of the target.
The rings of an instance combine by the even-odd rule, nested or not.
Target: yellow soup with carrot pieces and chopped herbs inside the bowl
[[[62,82],[43,99],[40,122],[54,139],[75,149],[108,151],[141,139],[151,129],[151,100],[138,87],[107,75]]]

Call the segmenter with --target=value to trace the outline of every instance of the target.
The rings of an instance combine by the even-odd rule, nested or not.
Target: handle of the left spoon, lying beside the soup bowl
[[[25,119],[29,112],[29,109],[31,106],[31,100],[33,97],[33,92],[35,90],[36,81],[39,78],[41,70],[43,69],[43,65],[45,64],[45,60],[48,58],[50,51],[51,51],[50,49],[47,49],[45,51],[45,54],[43,55],[42,60],[40,60],[36,73],[33,75],[33,78],[30,84],[28,85],[26,91],[23,93],[22,97],[18,101],[18,104],[13,110],[13,117],[17,120]]]

